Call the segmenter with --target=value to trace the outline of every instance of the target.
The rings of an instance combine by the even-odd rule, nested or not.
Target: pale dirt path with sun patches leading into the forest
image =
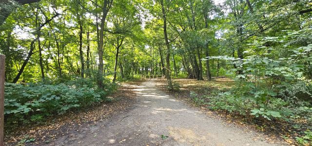
[[[261,134],[242,130],[156,89],[153,81],[135,89],[137,104],[111,119],[65,135],[53,146],[277,146],[261,139]],[[163,137],[161,137],[163,135]],[[169,136],[169,137],[166,137]]]

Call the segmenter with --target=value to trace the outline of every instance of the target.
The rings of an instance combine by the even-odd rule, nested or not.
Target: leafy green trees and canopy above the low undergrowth
[[[165,75],[174,90],[173,77],[226,76],[240,84],[232,94],[254,100],[253,115],[280,117],[262,110],[273,98],[311,103],[310,0],[4,0],[0,5],[7,83],[87,79],[105,90],[140,75]],[[302,87],[304,96],[290,91],[292,84]]]

